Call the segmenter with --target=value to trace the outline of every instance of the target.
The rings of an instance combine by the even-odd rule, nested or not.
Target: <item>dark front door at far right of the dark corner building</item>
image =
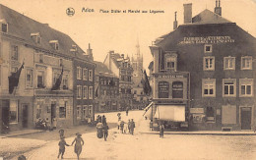
[[[241,130],[251,130],[251,108],[241,108]]]

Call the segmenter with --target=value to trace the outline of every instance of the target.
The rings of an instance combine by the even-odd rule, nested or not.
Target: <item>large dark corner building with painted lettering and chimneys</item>
[[[184,25],[151,46],[153,108],[162,110],[159,106],[164,103],[174,115],[155,111],[153,117],[179,125],[188,122],[190,130],[252,130],[255,42],[255,37],[222,17],[220,4],[215,12],[205,10],[193,18],[192,4],[185,4]]]

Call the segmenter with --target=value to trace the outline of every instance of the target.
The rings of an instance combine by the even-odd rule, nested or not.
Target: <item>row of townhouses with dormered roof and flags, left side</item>
[[[55,118],[57,127],[93,120],[96,65],[90,54],[60,31],[0,9],[0,129],[34,128],[39,119]],[[12,76],[19,76],[17,86]]]

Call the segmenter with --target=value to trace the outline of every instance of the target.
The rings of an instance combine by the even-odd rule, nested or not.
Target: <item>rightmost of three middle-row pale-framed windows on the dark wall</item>
[[[240,96],[252,96],[253,95],[253,79],[240,79]]]

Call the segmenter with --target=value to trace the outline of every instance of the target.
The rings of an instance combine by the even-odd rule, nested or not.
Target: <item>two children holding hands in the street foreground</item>
[[[76,133],[77,137],[72,141],[71,145],[69,145],[64,136],[64,130],[60,130],[60,141],[58,143],[59,145],[59,153],[58,153],[58,158],[61,156],[61,159],[63,159],[63,155],[65,153],[65,146],[72,146],[75,143],[74,151],[77,154],[77,158],[79,159],[79,156],[82,152],[82,145],[84,145],[84,140],[82,138],[81,133]]]

